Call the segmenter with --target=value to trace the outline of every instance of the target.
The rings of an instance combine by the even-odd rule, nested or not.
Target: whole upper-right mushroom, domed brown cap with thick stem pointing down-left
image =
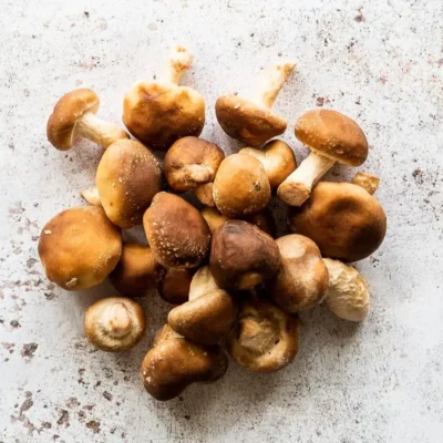
[[[278,196],[290,206],[301,206],[336,162],[360,166],[368,156],[361,127],[337,111],[308,111],[296,123],[296,136],[311,153],[278,188]]]

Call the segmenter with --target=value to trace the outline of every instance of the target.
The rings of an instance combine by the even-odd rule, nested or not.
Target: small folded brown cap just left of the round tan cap
[[[163,171],[171,188],[176,193],[185,193],[214,182],[224,158],[225,154],[216,144],[188,136],[177,140],[169,147]]]

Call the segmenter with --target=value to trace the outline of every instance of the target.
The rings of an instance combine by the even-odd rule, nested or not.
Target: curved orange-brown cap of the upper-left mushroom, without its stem
[[[96,114],[99,106],[100,99],[92,90],[80,89],[64,94],[48,120],[48,140],[60,151],[69,150],[78,120],[86,112]]]

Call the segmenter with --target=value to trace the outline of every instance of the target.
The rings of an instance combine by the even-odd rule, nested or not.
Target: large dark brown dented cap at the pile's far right
[[[291,208],[291,233],[312,239],[323,257],[361,260],[382,244],[387,216],[365,189],[350,183],[319,183],[300,208]]]

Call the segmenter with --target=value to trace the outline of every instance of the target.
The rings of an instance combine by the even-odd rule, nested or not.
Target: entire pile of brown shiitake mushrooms
[[[179,85],[192,61],[178,47],[159,81],[128,90],[127,132],[95,115],[99,97],[86,89],[60,99],[48,121],[58,150],[87,138],[104,153],[95,186],[81,190],[89,205],[43,227],[44,271],[68,291],[110,279],[117,295],[84,316],[85,334],[103,351],[126,351],[144,336],[150,313],[134,298],[158,295],[173,306],[141,361],[144,388],[163,401],[220,379],[227,354],[255,372],[285,368],[299,350],[300,312],[323,301],[341,319],[364,320],[368,284],[349,262],[373,254],[387,230],[373,196],[378,177],[359,172],[351,183],[319,183],[337,162],[365,161],[358,123],[332,110],[302,113],[295,134],[311,153],[299,166],[293,150],[274,138],[288,124],[271,106],[295,63],[266,71],[250,97],[219,96],[220,127],[245,144],[225,156],[199,138],[204,99]],[[163,167],[153,151],[165,153]],[[270,205],[277,198],[289,207],[279,238]],[[140,225],[144,244],[125,235]]]

